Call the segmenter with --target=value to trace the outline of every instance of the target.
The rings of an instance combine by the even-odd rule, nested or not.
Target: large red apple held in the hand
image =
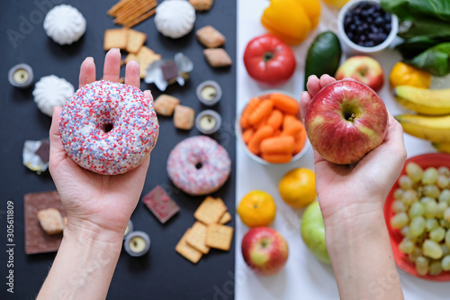
[[[352,164],[378,147],[386,136],[388,112],[372,88],[351,80],[335,81],[315,95],[305,116],[314,150],[336,164]]]

